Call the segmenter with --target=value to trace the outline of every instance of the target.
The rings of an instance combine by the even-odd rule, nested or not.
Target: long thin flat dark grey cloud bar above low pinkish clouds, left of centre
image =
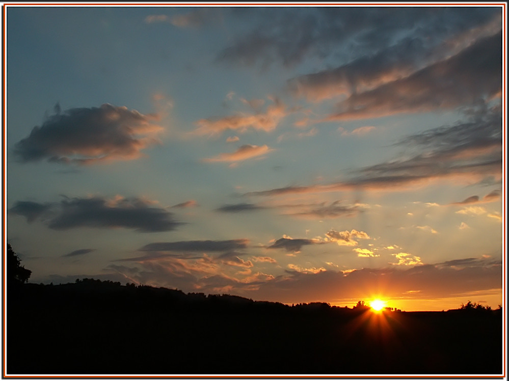
[[[249,240],[237,239],[227,241],[178,241],[155,242],[143,246],[139,251],[231,251],[247,248]]]

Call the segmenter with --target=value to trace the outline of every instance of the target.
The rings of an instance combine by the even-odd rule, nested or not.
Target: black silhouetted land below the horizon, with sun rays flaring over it
[[[502,372],[502,311],[289,307],[81,281],[9,289],[8,374]]]

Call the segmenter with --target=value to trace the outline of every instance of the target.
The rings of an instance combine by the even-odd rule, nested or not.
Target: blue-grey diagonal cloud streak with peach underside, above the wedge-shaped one
[[[292,78],[288,81],[288,90],[311,100],[361,93],[444,60],[476,39],[495,34],[500,28],[499,13],[480,18],[466,31],[462,26],[437,35],[437,31],[426,34],[422,27],[414,28],[403,37],[394,36],[392,45],[382,44],[380,49],[372,49],[333,69]],[[380,32],[385,31],[377,31]]]

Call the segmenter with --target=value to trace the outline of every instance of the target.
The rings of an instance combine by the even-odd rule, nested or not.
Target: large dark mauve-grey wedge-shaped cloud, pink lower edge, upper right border
[[[502,88],[502,36],[480,39],[445,61],[373,90],[352,94],[328,120],[378,118],[401,112],[453,109],[491,98]]]

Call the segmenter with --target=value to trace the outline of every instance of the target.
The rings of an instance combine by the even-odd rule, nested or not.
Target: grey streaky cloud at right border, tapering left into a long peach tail
[[[500,106],[484,103],[465,112],[466,120],[401,139],[407,152],[399,158],[352,170],[337,183],[289,186],[245,193],[246,196],[333,192],[341,190],[394,191],[415,189],[440,180],[468,183],[502,176],[502,113]],[[492,195],[495,197],[495,194]]]

